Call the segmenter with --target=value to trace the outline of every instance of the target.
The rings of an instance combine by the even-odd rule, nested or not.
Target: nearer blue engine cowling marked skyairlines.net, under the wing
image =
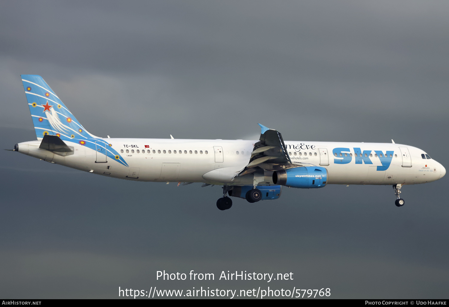
[[[324,167],[293,167],[273,173],[273,183],[291,188],[317,189],[326,185],[327,171]]]

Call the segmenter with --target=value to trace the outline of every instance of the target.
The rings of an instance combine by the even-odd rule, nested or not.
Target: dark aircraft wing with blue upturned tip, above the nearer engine
[[[254,144],[248,165],[238,173],[238,176],[259,170],[275,171],[292,164],[281,133],[261,124],[259,126],[261,129],[259,141]]]

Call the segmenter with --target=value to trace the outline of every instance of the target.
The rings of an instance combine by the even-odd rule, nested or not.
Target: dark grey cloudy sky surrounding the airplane
[[[449,4],[443,1],[3,1],[5,149],[34,139],[20,74],[41,75],[89,132],[413,145],[446,168]],[[284,189],[135,183],[2,151],[0,298],[116,298],[157,270],[294,272],[270,285],[333,298],[447,298],[447,178]]]

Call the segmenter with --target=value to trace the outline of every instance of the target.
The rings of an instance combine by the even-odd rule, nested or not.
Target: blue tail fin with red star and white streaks
[[[41,76],[21,77],[38,140],[46,134],[62,139],[98,138],[84,129]]]

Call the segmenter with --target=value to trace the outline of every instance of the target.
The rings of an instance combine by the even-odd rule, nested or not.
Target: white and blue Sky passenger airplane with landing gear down
[[[391,185],[396,206],[405,184],[442,178],[445,167],[422,149],[392,143],[284,141],[261,124],[259,140],[107,138],[89,133],[42,77],[21,75],[37,140],[13,151],[97,175],[132,181],[223,185],[216,206],[230,197],[274,200],[282,187],[327,184]],[[228,196],[230,197],[228,197]]]

